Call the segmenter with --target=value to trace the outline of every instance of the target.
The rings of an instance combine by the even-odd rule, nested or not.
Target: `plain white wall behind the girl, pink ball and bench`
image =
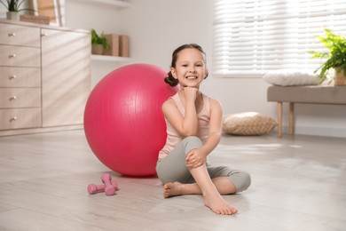
[[[211,57],[212,0],[130,0],[131,7],[122,10],[83,0],[66,1],[67,27],[129,35],[133,63],[152,63],[169,70],[171,53],[187,43],[201,44]],[[93,60],[92,84],[126,64]],[[224,114],[256,111],[276,118],[276,104],[266,101],[267,87],[261,78],[209,75],[201,90],[222,102]],[[296,105],[295,114],[296,133],[346,137],[345,106]],[[287,107],[284,115],[287,131]]]

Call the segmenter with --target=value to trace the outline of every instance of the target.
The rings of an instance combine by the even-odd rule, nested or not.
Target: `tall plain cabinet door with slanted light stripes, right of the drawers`
[[[83,123],[90,92],[90,35],[42,29],[43,127]]]

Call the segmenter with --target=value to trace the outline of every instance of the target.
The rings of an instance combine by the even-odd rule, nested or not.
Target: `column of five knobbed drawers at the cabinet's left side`
[[[40,52],[40,28],[0,23],[0,132],[41,126]]]

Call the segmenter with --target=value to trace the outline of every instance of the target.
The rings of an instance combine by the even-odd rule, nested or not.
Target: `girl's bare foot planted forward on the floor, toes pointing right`
[[[221,195],[209,196],[204,198],[204,204],[216,214],[220,215],[232,215],[237,213],[238,210],[234,208],[230,203],[224,201]]]

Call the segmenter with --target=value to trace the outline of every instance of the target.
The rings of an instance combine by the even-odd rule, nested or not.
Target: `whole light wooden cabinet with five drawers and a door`
[[[0,136],[83,127],[87,30],[0,20]]]

